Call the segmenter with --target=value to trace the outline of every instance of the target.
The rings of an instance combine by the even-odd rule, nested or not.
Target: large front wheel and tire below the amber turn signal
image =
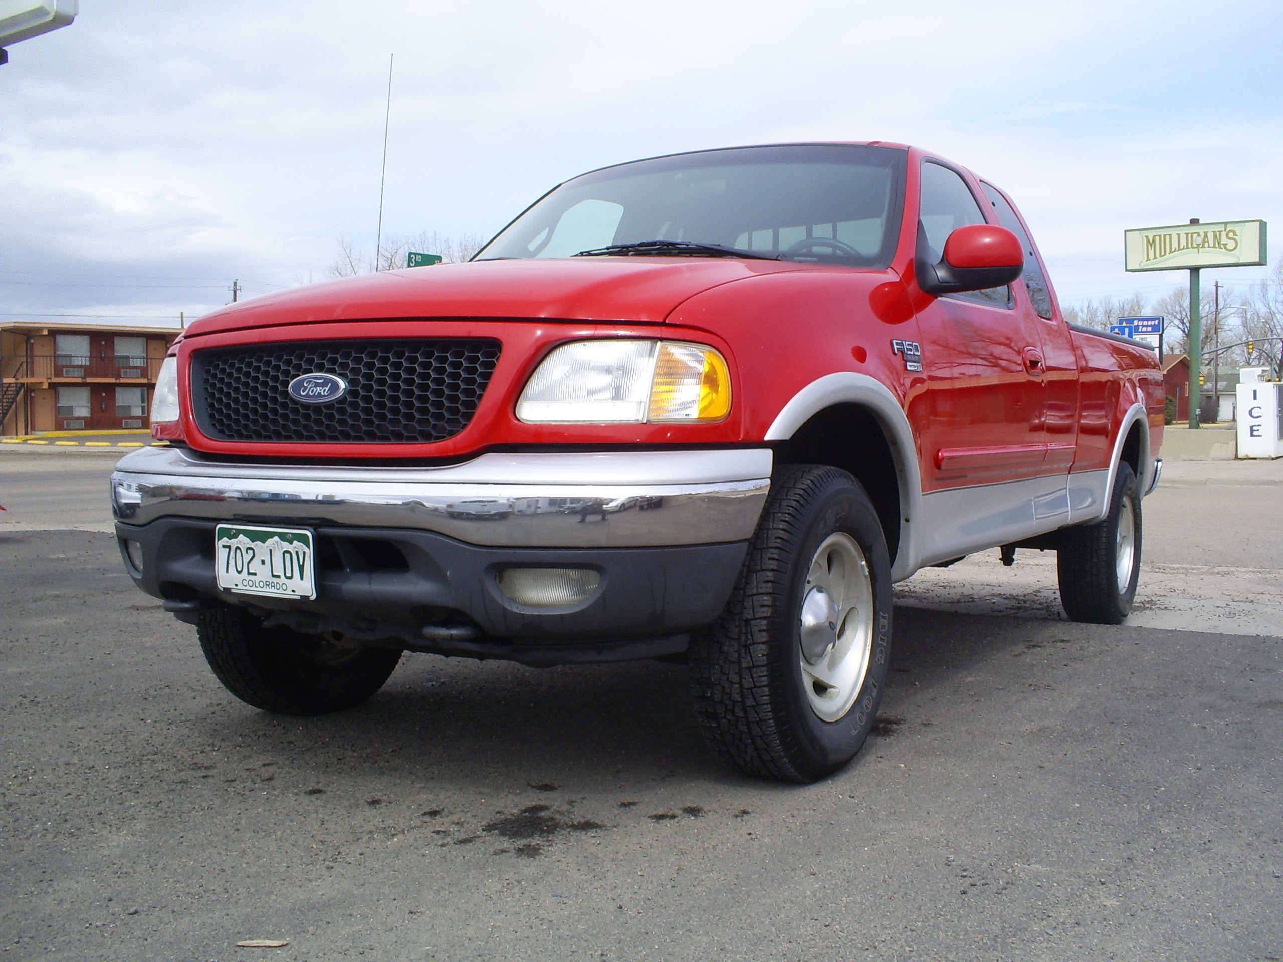
[[[887,679],[890,563],[863,487],[783,468],[721,617],[692,639],[695,712],[749,775],[815,781],[860,750]]]

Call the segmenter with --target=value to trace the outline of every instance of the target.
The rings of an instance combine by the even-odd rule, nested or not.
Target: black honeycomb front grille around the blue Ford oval
[[[214,348],[192,354],[192,408],[217,441],[444,441],[472,421],[498,360],[499,341],[479,337]],[[321,372],[348,392],[326,404],[290,396],[290,381]]]

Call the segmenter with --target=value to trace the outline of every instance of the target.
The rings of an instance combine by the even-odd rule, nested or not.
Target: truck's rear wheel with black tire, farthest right
[[[1056,570],[1070,621],[1121,625],[1132,613],[1141,578],[1141,489],[1130,464],[1119,464],[1101,521],[1061,531]]]

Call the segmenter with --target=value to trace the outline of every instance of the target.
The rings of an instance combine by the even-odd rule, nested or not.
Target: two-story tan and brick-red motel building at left
[[[0,323],[0,436],[149,428],[176,327]]]

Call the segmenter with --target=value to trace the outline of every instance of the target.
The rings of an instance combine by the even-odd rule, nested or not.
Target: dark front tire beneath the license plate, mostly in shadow
[[[348,648],[284,626],[264,629],[240,608],[201,612],[205,661],[236,698],[280,714],[325,714],[373,695],[400,661],[393,648]]]

